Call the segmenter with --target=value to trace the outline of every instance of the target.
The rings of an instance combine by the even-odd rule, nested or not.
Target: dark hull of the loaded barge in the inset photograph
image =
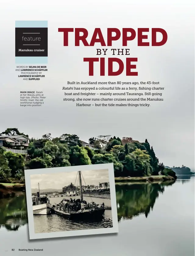
[[[102,218],[102,215],[105,212],[104,208],[99,208],[93,212],[90,211],[83,211],[83,212],[73,212],[73,213],[69,213],[69,212],[63,212],[62,210],[58,210],[58,209],[54,209],[55,213],[58,215],[63,216],[66,219],[98,219],[98,218]]]

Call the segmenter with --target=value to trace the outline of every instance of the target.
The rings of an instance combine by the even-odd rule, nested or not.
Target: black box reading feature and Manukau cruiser
[[[16,27],[15,41],[16,57],[48,56],[47,27]]]

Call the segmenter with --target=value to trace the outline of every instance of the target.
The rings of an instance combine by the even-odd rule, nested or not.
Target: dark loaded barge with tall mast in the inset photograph
[[[67,219],[98,219],[102,218],[102,215],[105,212],[104,204],[97,205],[94,202],[90,204],[87,201],[83,200],[83,190],[81,183],[81,172],[79,174],[79,183],[80,183],[80,198],[68,200],[63,199],[59,204],[53,207],[53,210],[56,214],[63,216]]]

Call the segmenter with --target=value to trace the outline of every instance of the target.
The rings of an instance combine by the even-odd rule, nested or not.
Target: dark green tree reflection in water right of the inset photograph
[[[159,193],[165,191],[175,181],[154,183],[116,183],[116,201],[118,208],[118,221],[132,219],[144,214],[147,218],[153,209]]]

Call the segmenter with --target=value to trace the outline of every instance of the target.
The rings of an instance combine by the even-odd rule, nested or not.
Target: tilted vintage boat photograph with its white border
[[[30,239],[118,232],[113,164],[25,170],[25,181]]]

